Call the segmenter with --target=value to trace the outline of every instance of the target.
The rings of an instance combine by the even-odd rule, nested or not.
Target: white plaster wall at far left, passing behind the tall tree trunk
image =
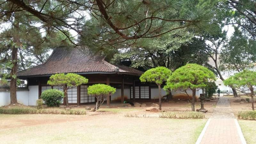
[[[17,91],[17,101],[26,106],[35,106],[38,100],[38,85],[28,86],[28,90]],[[10,92],[0,92],[0,106],[10,104]]]

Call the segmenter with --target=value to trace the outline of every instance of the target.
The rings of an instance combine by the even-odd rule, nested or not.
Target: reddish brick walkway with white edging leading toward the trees
[[[211,118],[206,123],[206,130],[200,144],[244,144],[237,120],[230,107],[228,98],[220,97]],[[203,134],[202,132],[202,134]],[[242,138],[241,138],[242,137]],[[200,137],[199,137],[200,138]],[[199,143],[197,141],[197,143]]]

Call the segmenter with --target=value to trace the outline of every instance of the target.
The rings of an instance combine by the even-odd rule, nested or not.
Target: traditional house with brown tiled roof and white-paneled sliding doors
[[[47,85],[49,77],[57,73],[76,73],[89,80],[87,84],[68,90],[70,105],[95,102],[95,98],[87,94],[87,87],[98,83],[117,88],[116,93],[107,98],[108,106],[110,101],[123,103],[124,100],[132,100],[133,95],[136,99],[151,99],[150,84],[139,81],[142,71],[124,65],[112,65],[105,60],[104,55],[95,54],[89,48],[78,46],[55,48],[43,64],[18,73],[20,79],[28,82],[28,105],[35,105],[41,93],[47,89],[61,90],[59,86]]]

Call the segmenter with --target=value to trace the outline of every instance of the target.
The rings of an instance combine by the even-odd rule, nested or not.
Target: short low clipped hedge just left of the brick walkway
[[[177,119],[199,119],[204,118],[204,113],[195,111],[186,112],[162,112],[160,114],[162,118],[177,118]]]

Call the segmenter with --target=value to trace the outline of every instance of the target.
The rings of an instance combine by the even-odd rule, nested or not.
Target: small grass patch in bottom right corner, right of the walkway
[[[255,120],[238,120],[247,144],[255,144]]]

